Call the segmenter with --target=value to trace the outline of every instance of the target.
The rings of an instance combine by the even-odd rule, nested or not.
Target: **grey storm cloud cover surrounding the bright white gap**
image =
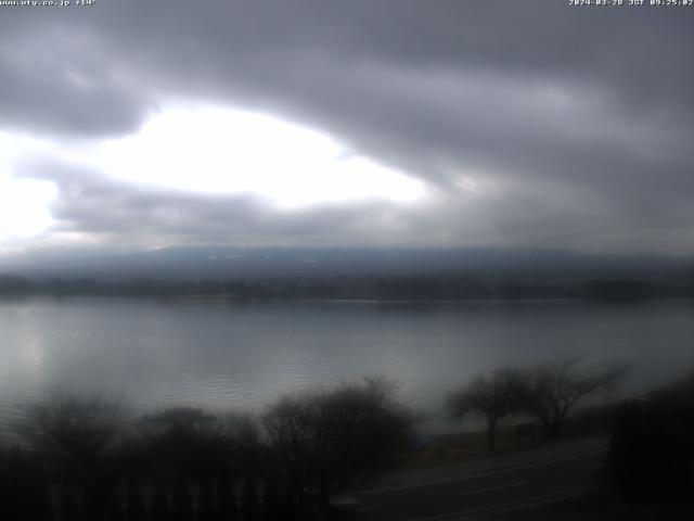
[[[424,232],[432,245],[668,251],[692,236],[691,9],[169,0],[9,14],[7,126],[127,134],[158,101],[196,98],[321,129],[444,193],[426,209],[287,218],[246,198],[100,187],[92,174],[79,198],[59,180],[61,227],[136,233],[134,215],[143,237],[174,241],[358,244]]]

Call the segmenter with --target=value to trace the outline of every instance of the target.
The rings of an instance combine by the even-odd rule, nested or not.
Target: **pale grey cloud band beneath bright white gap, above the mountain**
[[[92,247],[110,251],[213,243],[448,247],[461,241],[500,247],[561,243],[594,251],[615,246],[615,234],[628,238],[619,247],[629,247],[629,241],[635,239],[628,236],[630,223],[614,208],[590,198],[577,203],[575,192],[561,187],[550,187],[551,199],[544,192],[516,187],[492,190],[483,198],[442,194],[437,205],[428,206],[368,202],[278,211],[252,195],[163,192],[69,165],[34,165],[27,175],[59,187],[61,198],[52,208],[57,244],[61,236],[80,234],[91,239]],[[644,219],[640,240],[672,249],[673,237],[663,236],[659,226],[669,226],[674,237],[686,233],[674,228],[676,223]]]

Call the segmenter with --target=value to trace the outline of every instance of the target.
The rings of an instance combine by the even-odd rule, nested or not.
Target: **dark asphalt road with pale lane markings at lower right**
[[[493,519],[581,495],[603,465],[593,449],[426,485],[357,494],[360,521]]]

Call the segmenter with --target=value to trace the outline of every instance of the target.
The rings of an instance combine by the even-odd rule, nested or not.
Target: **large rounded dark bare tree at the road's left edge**
[[[295,505],[327,504],[331,494],[376,470],[403,448],[410,417],[384,379],[282,398],[262,424],[275,468]]]

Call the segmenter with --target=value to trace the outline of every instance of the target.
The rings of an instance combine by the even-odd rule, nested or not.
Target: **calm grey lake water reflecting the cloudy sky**
[[[257,409],[312,385],[386,374],[436,414],[479,371],[566,354],[633,364],[622,393],[694,367],[694,302],[0,301],[0,418],[52,389],[142,407]]]

